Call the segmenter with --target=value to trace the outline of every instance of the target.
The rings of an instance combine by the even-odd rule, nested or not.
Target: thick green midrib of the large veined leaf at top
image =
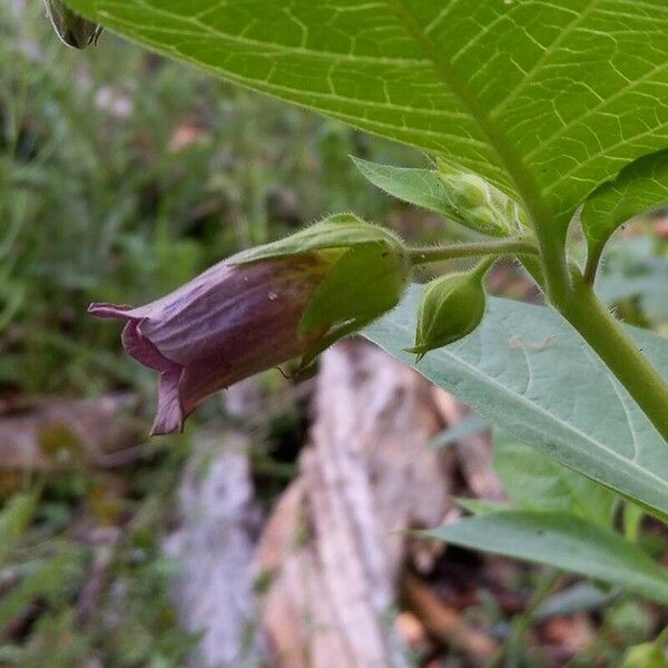
[[[517,193],[522,199],[536,228],[538,229],[540,226],[551,227],[553,225],[552,218],[548,214],[548,207],[540,196],[540,189],[536,186],[531,174],[524,169],[521,157],[512,149],[500,128],[493,122],[491,115],[485,112],[477,96],[460,79],[448,59],[442,56],[438,45],[432,41],[425,29],[415,21],[402,0],[385,0],[385,2],[404,29],[420,45],[444,86],[460,99],[461,104],[478,124],[481,132],[488,138],[490,147],[497,154],[499,163],[504,167],[517,188]],[[443,20],[444,16],[446,14],[441,14],[439,21]],[[509,193],[509,195],[512,195],[512,193]],[[554,230],[556,233],[557,230]]]

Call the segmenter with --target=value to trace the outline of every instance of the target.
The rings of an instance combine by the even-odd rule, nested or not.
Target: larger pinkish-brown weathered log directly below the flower
[[[323,355],[301,477],[257,552],[272,665],[405,665],[397,532],[439,524],[449,505],[449,455],[426,446],[438,429],[430,387],[409,367],[361,342]]]

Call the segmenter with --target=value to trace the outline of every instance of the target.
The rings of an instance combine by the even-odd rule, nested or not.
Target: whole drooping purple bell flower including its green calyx
[[[126,352],[160,373],[151,434],[166,434],[217,390],[293,357],[308,364],[394,307],[409,274],[397,237],[338,215],[234,255],[145,306],[89,312],[126,321]]]

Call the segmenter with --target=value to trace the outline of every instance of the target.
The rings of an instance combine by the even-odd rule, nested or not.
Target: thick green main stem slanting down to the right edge
[[[648,362],[579,272],[572,274],[570,298],[556,306],[668,442],[668,382]]]

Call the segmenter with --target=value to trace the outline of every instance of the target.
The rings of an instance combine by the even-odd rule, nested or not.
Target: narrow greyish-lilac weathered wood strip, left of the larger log
[[[246,439],[197,434],[179,487],[180,527],[166,552],[179,572],[174,600],[184,628],[202,632],[191,665],[259,665],[250,563],[259,531]]]

